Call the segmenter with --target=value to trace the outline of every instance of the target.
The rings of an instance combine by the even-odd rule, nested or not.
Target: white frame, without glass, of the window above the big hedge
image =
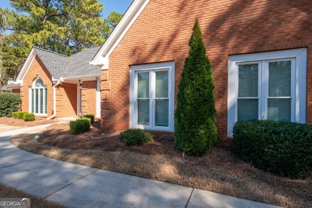
[[[268,63],[292,61],[291,71],[291,122],[306,122],[307,49],[270,51],[251,54],[231,55],[228,59],[228,133],[233,136],[237,122],[238,65],[258,63],[258,119],[267,119]],[[281,98],[281,97],[278,97]]]

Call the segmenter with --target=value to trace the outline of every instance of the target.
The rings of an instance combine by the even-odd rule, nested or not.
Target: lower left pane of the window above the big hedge
[[[258,99],[238,99],[237,104],[237,121],[258,119]]]

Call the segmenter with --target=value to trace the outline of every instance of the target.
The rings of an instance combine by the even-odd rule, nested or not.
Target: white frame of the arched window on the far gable
[[[32,87],[30,87],[29,88],[29,112],[31,112],[31,113],[34,113],[36,116],[47,116],[48,114],[47,114],[47,112],[45,112],[45,105],[46,105],[46,97],[48,96],[47,94],[48,94],[48,92],[47,92],[47,85],[44,85],[44,83],[43,83],[43,86],[40,86],[40,87],[37,87],[36,86],[36,82],[38,81],[38,80],[41,80],[42,81],[42,83],[43,83],[43,80],[41,79],[41,78],[39,78],[39,77],[37,77],[37,79],[33,82],[33,85],[32,85]],[[33,112],[32,111],[32,109],[34,109],[34,111],[35,111],[35,109],[36,109],[36,103],[35,103],[35,100],[36,100],[36,96],[37,96],[37,91],[36,91],[36,89],[41,89],[41,90],[43,90],[43,93],[42,93],[42,95],[43,95],[43,98],[42,98],[42,101],[43,101],[43,109],[42,109],[42,113],[35,113],[35,112]],[[46,93],[45,93],[46,92]],[[33,97],[33,99],[32,99],[32,94],[34,93],[34,97]],[[39,95],[38,95],[39,96]],[[38,101],[40,101],[40,97],[38,97]],[[40,103],[38,103],[38,111],[40,112],[40,105],[39,105]],[[33,107],[33,108],[32,108]]]

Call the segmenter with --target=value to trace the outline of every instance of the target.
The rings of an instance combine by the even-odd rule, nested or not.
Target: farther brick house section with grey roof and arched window
[[[100,67],[89,64],[99,47],[64,56],[33,47],[11,87],[21,109],[47,117],[100,117]]]

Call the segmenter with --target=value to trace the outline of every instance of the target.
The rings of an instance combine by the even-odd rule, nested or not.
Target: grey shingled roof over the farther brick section
[[[101,68],[89,64],[99,48],[99,46],[88,48],[68,57],[42,48],[33,47],[54,79],[100,75]]]

